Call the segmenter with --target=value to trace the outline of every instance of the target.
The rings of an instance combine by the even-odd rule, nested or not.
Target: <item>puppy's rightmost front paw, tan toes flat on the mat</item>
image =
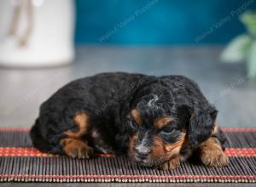
[[[223,150],[201,150],[201,161],[207,167],[224,167],[230,162],[229,156],[226,156]]]

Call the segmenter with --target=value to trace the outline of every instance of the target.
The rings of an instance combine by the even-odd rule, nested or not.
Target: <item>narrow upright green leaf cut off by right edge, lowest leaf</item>
[[[247,76],[256,79],[256,42],[253,42],[247,60]]]

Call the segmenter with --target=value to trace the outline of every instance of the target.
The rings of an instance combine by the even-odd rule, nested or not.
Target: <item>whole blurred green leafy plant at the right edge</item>
[[[246,62],[247,77],[256,79],[256,10],[247,11],[240,16],[247,28],[247,34],[235,37],[220,58],[224,62]]]

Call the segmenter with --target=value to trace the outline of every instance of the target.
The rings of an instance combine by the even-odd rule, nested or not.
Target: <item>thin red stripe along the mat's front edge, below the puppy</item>
[[[29,178],[255,178],[256,175],[56,175],[56,174],[0,174],[0,177],[29,177]]]

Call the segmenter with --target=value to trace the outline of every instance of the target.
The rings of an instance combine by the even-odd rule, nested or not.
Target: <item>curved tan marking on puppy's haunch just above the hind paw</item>
[[[89,129],[89,116],[84,112],[81,112],[73,117],[73,122],[78,126],[79,130],[77,132],[73,132],[71,130],[67,130],[65,133],[67,137],[79,139],[83,137]]]

